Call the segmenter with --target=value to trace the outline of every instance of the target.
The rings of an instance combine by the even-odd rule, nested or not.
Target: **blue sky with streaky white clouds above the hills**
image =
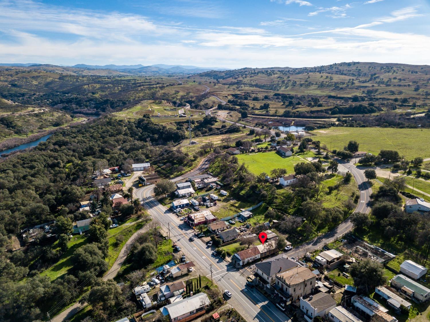
[[[0,0],[0,62],[430,64],[430,0]]]

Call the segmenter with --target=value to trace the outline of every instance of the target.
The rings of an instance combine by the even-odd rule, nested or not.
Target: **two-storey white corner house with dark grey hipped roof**
[[[259,276],[257,282],[260,282],[259,284],[264,283],[267,288],[270,288],[270,285],[275,282],[276,274],[284,273],[298,266],[300,266],[300,264],[288,257],[268,259],[257,263],[255,264],[255,273]]]

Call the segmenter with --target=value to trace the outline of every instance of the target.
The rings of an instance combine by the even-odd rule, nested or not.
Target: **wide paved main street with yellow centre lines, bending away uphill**
[[[203,172],[208,166],[209,162],[205,159],[196,170],[175,178],[173,181],[181,181],[190,175]],[[246,276],[251,274],[246,268],[239,270],[228,261],[213,257],[211,255],[213,249],[206,247],[200,239],[190,242],[189,237],[194,234],[194,230],[153,198],[153,188],[154,186],[139,188],[135,192],[136,196],[142,199],[149,214],[160,222],[166,233],[169,233],[170,228],[170,238],[180,245],[181,252],[185,253],[187,259],[196,264],[199,273],[211,278],[212,268],[213,281],[221,291],[228,289],[233,294],[228,302],[243,315],[246,321],[289,321],[289,318],[268,301],[263,294],[244,286]]]

